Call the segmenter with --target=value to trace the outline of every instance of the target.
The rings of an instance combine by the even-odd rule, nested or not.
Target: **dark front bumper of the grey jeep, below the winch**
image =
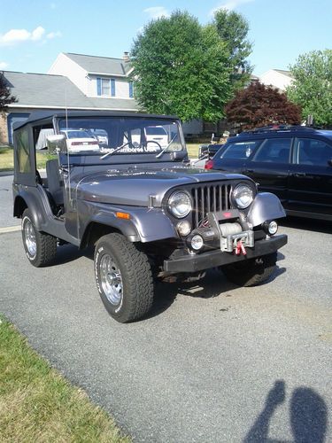
[[[247,248],[247,255],[235,255],[235,253],[223,253],[220,250],[200,253],[196,255],[185,255],[174,260],[164,260],[164,271],[166,272],[197,272],[217,266],[228,265],[237,261],[250,260],[269,253],[275,253],[279,248],[287,244],[287,236],[266,238],[255,242],[253,248]]]

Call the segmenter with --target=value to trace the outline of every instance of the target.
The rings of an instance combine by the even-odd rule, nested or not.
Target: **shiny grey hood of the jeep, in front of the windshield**
[[[125,206],[149,206],[149,196],[155,196],[154,206],[161,206],[167,190],[193,183],[220,182],[241,179],[243,175],[191,167],[127,168],[85,175],[77,180],[77,198],[98,203]],[[245,177],[247,178],[247,177]]]

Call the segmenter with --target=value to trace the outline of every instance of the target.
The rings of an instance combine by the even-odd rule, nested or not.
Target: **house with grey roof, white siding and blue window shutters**
[[[129,79],[127,52],[123,58],[59,54],[48,74],[4,71],[18,101],[0,114],[0,143],[12,144],[12,127],[33,111],[138,111]]]

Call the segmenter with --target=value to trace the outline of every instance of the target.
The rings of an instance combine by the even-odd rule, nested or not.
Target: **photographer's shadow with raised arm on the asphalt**
[[[269,439],[268,431],[274,412],[285,397],[285,382],[277,380],[243,443],[282,443],[282,440]],[[328,408],[320,395],[310,388],[295,389],[290,399],[290,425],[294,443],[323,443],[327,424]]]

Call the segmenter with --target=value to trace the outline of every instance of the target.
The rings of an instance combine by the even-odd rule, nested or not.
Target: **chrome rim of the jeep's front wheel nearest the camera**
[[[108,301],[112,305],[120,305],[122,299],[121,273],[108,253],[105,253],[100,260],[100,280]]]

